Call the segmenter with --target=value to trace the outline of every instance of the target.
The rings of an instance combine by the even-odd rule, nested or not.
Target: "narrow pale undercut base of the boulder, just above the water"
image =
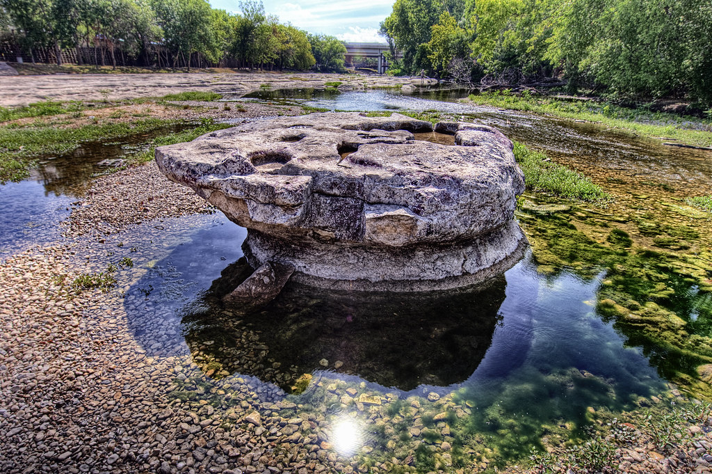
[[[513,267],[527,247],[526,237],[513,221],[473,241],[409,246],[396,252],[379,247],[334,249],[330,244],[303,244],[260,232],[248,232],[242,249],[253,268],[271,259],[297,264],[292,279],[302,284],[352,291],[428,292],[483,282]],[[378,275],[379,279],[344,279],[345,265],[350,275]],[[461,273],[453,274],[454,268]]]

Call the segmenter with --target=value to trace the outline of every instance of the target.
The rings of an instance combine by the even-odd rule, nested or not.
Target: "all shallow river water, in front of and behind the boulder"
[[[689,190],[712,194],[710,153],[667,148],[590,123],[378,91],[277,91],[248,100],[330,110],[439,110],[494,125],[616,192],[608,216],[653,192],[656,202]],[[103,158],[115,158],[122,148],[116,146]],[[76,189],[51,178],[50,169],[66,174],[62,163],[49,160],[33,180],[0,187],[0,205],[18,210],[4,212],[0,258],[56,238]],[[72,172],[85,179],[98,166]],[[219,301],[245,272],[245,236],[222,215],[125,232],[122,239],[137,248],[135,269],[120,279],[130,331],[157,359],[192,354],[205,373],[246,383],[262,401],[288,401],[346,420],[332,439],[342,455],[388,458],[390,450],[420,452],[445,442],[454,447],[453,457],[517,457],[538,445],[542,426],[550,436],[560,428],[577,432],[594,408],[634,408],[641,397],[666,388],[649,351],[627,343],[597,314],[603,272],[543,273],[530,251],[486,287],[394,296],[288,284],[268,306],[242,313]],[[200,396],[197,388],[175,391]],[[344,404],[344,396],[354,403]]]

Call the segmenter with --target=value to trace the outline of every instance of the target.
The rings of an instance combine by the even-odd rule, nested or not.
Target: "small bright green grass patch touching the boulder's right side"
[[[522,143],[514,143],[514,156],[524,172],[527,189],[582,201],[610,199],[584,175],[553,163],[544,153],[531,150]]]

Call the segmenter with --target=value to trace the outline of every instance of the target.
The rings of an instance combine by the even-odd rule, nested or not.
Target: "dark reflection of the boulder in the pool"
[[[224,269],[184,308],[184,334],[210,375],[238,372],[283,388],[319,369],[402,390],[464,381],[491,345],[506,288],[503,275],[479,287],[419,294],[290,283],[262,308],[225,306],[221,297],[250,272],[244,259]]]

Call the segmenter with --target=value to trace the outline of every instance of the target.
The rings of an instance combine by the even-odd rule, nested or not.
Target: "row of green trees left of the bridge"
[[[240,2],[241,14],[206,0],[0,0],[0,34],[33,51],[62,50],[116,66],[227,66],[342,71],[346,48],[333,36],[311,35],[268,15],[261,2]]]

